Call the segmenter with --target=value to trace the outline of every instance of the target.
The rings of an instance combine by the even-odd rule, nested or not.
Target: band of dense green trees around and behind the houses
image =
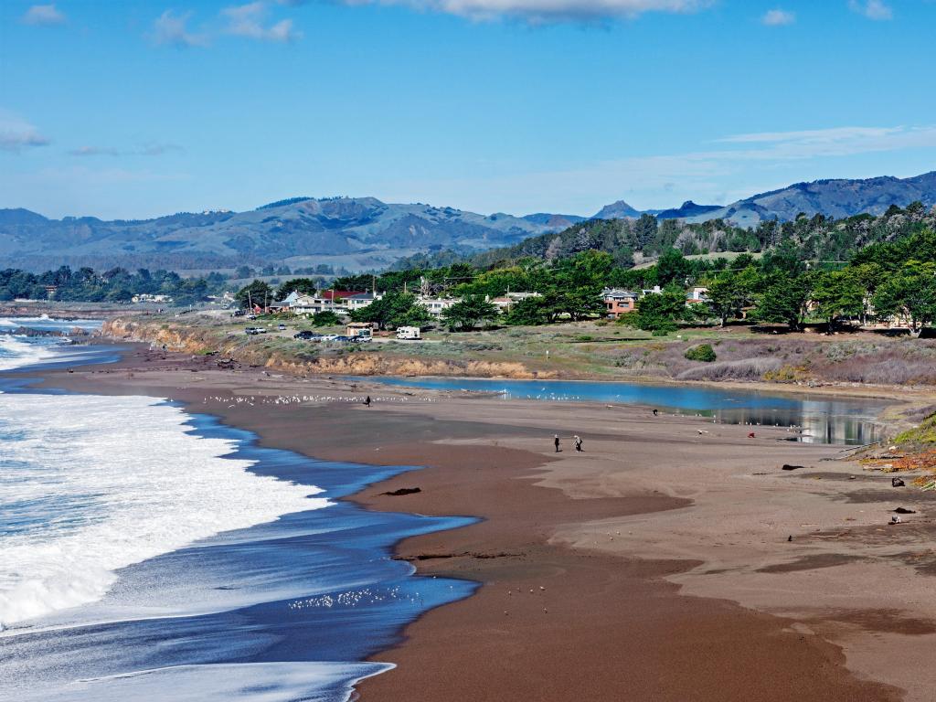
[[[670,247],[643,268],[624,267],[607,251],[588,249],[553,260],[523,257],[488,269],[459,262],[346,276],[334,286],[384,291],[383,300],[352,315],[381,329],[430,321],[416,293],[459,299],[446,310],[443,323],[450,329],[475,329],[482,323],[543,325],[596,318],[605,314],[603,288],[639,294],[659,286],[658,293],[641,298],[636,313],[623,315],[622,323],[665,334],[680,323],[724,326],[745,319],[799,329],[812,320],[833,330],[846,322],[897,317],[918,333],[936,323],[934,261],[936,229],[914,227],[894,241],[858,250],[848,261],[810,260],[797,241],[783,238],[761,255],[691,258]],[[255,296],[265,286],[252,285]],[[707,288],[707,300],[687,305],[686,292],[696,285]],[[267,294],[285,296],[293,289],[311,293],[314,282],[287,281]],[[490,300],[510,292],[538,295],[511,303],[502,314]]]

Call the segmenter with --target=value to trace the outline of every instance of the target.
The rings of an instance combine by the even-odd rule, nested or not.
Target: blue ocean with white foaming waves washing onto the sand
[[[96,323],[0,319],[76,326]],[[412,467],[314,461],[158,398],[22,378],[113,358],[0,334],[0,698],[344,701],[402,627],[475,591],[391,557],[472,519],[341,499]]]

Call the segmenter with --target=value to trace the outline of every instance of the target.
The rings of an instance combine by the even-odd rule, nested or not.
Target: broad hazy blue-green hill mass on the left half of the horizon
[[[192,270],[272,262],[293,268],[326,263],[360,271],[443,248],[467,253],[510,245],[576,221],[581,218],[483,215],[388,204],[374,197],[294,197],[251,212],[181,212],[110,222],[0,210],[0,265]]]

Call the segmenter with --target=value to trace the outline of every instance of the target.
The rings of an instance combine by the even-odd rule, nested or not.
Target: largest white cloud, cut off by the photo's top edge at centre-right
[[[496,20],[503,17],[534,24],[633,19],[647,12],[695,12],[713,0],[343,0],[345,5],[406,5],[433,12]]]

